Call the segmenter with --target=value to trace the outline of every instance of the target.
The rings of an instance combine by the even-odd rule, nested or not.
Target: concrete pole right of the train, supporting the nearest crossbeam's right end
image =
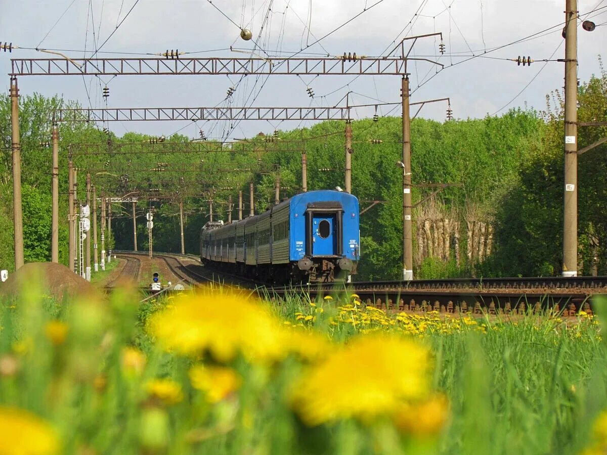
[[[402,279],[413,280],[413,233],[411,222],[411,119],[409,78],[402,78]]]

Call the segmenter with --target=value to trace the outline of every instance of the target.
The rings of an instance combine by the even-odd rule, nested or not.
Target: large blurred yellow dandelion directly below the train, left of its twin
[[[285,328],[270,312],[238,295],[197,294],[152,317],[149,329],[164,348],[191,356],[207,352],[219,362],[242,353],[249,361],[287,356]],[[299,318],[299,317],[298,317]]]

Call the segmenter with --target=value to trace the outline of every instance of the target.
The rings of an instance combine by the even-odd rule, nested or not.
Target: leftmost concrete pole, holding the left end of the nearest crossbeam
[[[17,78],[10,78],[10,124],[13,155],[13,226],[15,228],[15,270],[21,268],[23,258],[23,214],[21,207],[21,136],[19,135],[19,89]]]

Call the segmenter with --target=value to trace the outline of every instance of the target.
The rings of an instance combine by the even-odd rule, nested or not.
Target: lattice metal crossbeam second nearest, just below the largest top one
[[[125,107],[58,109],[58,122],[204,120],[350,120],[349,107]]]

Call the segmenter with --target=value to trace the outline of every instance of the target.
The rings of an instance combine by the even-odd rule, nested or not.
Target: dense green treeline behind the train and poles
[[[605,121],[607,75],[580,85],[579,120]],[[548,96],[543,112],[511,110],[496,117],[412,121],[414,204],[445,188],[414,209],[416,276],[554,275],[560,272],[563,197],[563,106],[559,93]],[[71,103],[58,97],[22,96],[22,183],[27,261],[50,259],[50,127],[53,109]],[[67,155],[78,170],[78,198],[84,197],[87,170],[98,197],[166,196],[137,204],[138,246],[148,248],[143,214],[154,206],[154,248],[180,251],[178,201],[185,212],[186,251],[198,252],[198,231],[208,221],[209,201],[215,219],[226,220],[228,198],[237,219],[238,192],[243,214],[249,213],[249,181],[255,187],[255,212],[274,202],[280,175],[281,198],[300,190],[301,144],[305,141],[308,190],[344,186],[344,123],[327,121],[311,128],[257,136],[239,144],[248,153],[217,151],[220,144],[191,143],[175,135],[163,144],[149,136],[117,137],[92,124],[60,126],[60,260],[67,263]],[[396,278],[401,271],[402,169],[401,119],[353,121],[353,193],[361,209],[381,201],[361,217],[362,261],[359,279]],[[605,127],[580,128],[578,147],[607,135]],[[10,99],[0,95],[0,265],[12,268],[12,177]],[[373,140],[381,140],[379,144]],[[69,146],[75,143],[96,147]],[[206,152],[197,152],[201,149]],[[274,148],[290,149],[272,152]],[[95,154],[92,154],[95,150]],[[240,149],[239,149],[240,150]],[[138,153],[146,152],[146,153]],[[197,152],[197,153],[194,153]],[[605,144],[579,159],[580,270],[607,272],[607,149]],[[154,191],[161,189],[160,192]],[[112,234],[117,249],[132,248],[131,204],[113,204]]]

